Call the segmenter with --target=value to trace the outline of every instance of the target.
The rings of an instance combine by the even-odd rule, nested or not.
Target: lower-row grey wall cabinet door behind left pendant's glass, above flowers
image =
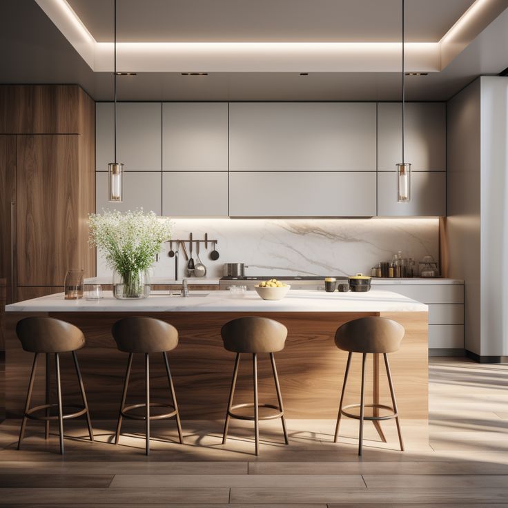
[[[95,211],[118,210],[126,212],[143,208],[161,215],[161,172],[160,171],[125,171],[124,201],[108,202],[108,173],[95,173]]]

